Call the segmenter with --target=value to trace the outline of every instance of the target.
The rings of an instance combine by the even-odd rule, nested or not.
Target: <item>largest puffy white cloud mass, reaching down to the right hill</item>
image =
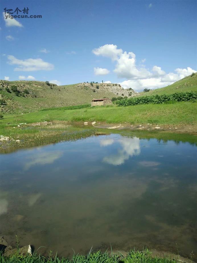
[[[174,72],[168,74],[159,66],[153,66],[151,70],[147,70],[144,65],[142,68],[136,65],[136,55],[133,52],[126,52],[118,49],[116,45],[106,44],[95,48],[92,51],[97,56],[111,58],[115,62],[114,73],[118,78],[126,80],[119,82],[124,88],[133,88],[136,91],[142,91],[144,88],[156,89],[165,87],[182,79],[192,72],[196,72],[192,68],[177,68]],[[145,59],[141,60],[145,62]]]

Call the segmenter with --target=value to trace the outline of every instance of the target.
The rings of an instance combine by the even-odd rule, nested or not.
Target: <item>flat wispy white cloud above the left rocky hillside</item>
[[[43,61],[41,58],[33,59],[28,58],[25,60],[20,60],[14,56],[7,56],[8,64],[18,65],[18,68],[15,68],[14,71],[37,71],[37,70],[53,70],[54,65],[48,62]]]

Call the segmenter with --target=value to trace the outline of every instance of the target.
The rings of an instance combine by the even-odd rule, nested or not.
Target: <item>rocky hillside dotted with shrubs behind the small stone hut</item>
[[[116,83],[78,83],[57,86],[43,81],[0,80],[0,111],[29,112],[42,108],[90,103],[93,98],[132,97],[133,89]]]

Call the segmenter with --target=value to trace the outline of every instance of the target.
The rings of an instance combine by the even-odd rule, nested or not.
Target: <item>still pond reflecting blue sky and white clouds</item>
[[[171,137],[122,131],[2,153],[1,235],[45,255],[111,245],[197,258],[196,144]]]

